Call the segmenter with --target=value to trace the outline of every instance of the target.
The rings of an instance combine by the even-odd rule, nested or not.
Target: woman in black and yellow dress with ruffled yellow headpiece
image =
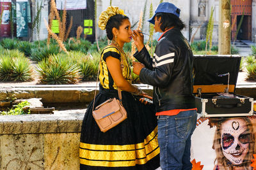
[[[122,50],[132,37],[129,18],[118,7],[109,6],[98,24],[100,29],[106,29],[112,42],[101,53],[100,92],[95,97],[95,106],[109,98],[118,99],[118,87],[122,90],[127,119],[107,132],[100,132],[92,116],[93,102],[90,103],[81,131],[80,169],[156,169],[159,146],[155,108],[134,97],[145,93],[132,86],[131,69]]]

